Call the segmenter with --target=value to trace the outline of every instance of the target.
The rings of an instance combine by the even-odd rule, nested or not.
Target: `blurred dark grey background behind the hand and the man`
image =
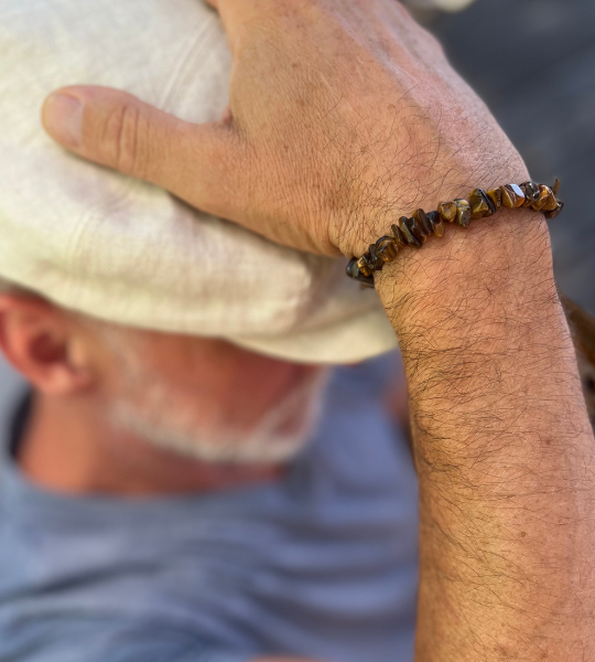
[[[556,278],[595,314],[595,1],[476,0],[458,13],[420,9],[419,18],[491,108],[533,179],[562,180],[566,207],[550,224]],[[18,385],[0,359],[0,415]]]

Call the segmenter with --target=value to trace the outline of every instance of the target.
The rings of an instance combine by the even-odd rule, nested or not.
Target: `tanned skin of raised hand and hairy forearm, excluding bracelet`
[[[398,2],[217,4],[235,58],[219,122],[69,87],[46,103],[47,130],[327,255],[361,254],[416,207],[528,179]],[[377,289],[403,350],[421,488],[415,662],[594,660],[594,438],[543,218],[448,227],[403,250]]]

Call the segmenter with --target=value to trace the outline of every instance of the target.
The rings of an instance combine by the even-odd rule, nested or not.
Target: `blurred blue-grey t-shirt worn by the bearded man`
[[[411,662],[416,482],[380,402],[391,366],[335,372],[277,483],[73,498],[28,482],[7,442],[0,662]]]

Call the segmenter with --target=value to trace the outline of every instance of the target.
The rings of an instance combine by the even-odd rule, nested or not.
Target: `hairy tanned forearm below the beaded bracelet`
[[[386,269],[421,491],[416,662],[593,660],[593,435],[545,224],[507,212]]]

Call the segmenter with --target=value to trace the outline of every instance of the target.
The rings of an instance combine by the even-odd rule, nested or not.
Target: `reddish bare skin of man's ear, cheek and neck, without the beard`
[[[167,385],[172,407],[196,412],[198,429],[208,419],[209,426],[248,433],[325,369],[270,359],[218,339],[132,329],[116,333],[118,350],[100,325],[35,297],[0,297],[3,353],[35,387],[19,458],[30,479],[61,492],[154,495],[228,489],[282,474],[278,463],[198,461],[115,425],[110,410],[126,384],[127,356],[120,351],[133,346],[143,367]],[[306,398],[296,405],[283,425],[300,425],[309,404]]]

